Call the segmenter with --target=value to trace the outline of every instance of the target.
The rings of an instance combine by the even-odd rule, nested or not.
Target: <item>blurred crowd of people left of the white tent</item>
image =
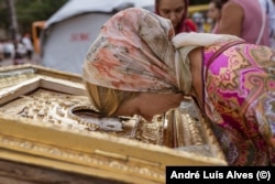
[[[30,33],[24,33],[23,36],[16,40],[0,41],[0,62],[12,59],[14,65],[23,64],[33,58],[33,43]]]

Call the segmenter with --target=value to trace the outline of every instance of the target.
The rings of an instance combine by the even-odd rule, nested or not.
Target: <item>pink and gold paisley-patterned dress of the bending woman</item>
[[[221,44],[205,47],[205,111],[215,122],[229,164],[274,165],[275,151],[270,145],[275,142],[275,51],[238,44],[207,69]]]

